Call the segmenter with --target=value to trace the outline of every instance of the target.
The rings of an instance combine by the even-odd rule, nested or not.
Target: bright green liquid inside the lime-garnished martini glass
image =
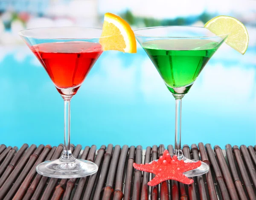
[[[220,44],[207,39],[157,39],[142,47],[168,87],[192,85]]]

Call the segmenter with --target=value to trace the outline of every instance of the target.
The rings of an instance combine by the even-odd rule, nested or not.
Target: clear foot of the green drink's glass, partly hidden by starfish
[[[184,163],[193,163],[193,162],[197,162],[196,160],[191,160],[191,159],[188,159],[186,158],[185,156],[182,156],[181,159],[179,160],[183,160]],[[155,160],[156,162],[158,160]],[[202,162],[202,161],[201,161]],[[150,162],[152,163],[152,161]],[[203,174],[206,174],[207,172],[209,172],[209,165],[207,165],[207,163],[204,163],[202,162],[201,166],[196,168],[196,169],[192,169],[192,170],[189,170],[187,172],[183,172],[183,174],[186,176],[186,177],[194,177],[194,176],[200,176],[200,175],[203,175]]]

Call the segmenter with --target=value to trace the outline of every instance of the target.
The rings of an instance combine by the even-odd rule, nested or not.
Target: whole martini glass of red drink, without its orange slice
[[[33,28],[20,31],[64,99],[64,150],[57,160],[39,164],[39,174],[55,178],[89,176],[98,171],[90,161],[75,159],[70,150],[70,100],[102,54],[102,29],[85,27]]]

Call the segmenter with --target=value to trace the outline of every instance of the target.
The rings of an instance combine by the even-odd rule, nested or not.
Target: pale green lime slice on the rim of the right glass
[[[209,20],[204,27],[216,35],[229,34],[225,42],[239,53],[244,54],[247,50],[248,32],[245,26],[236,18],[221,15]]]

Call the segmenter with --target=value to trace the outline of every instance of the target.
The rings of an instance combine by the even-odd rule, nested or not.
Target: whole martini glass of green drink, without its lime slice
[[[176,101],[174,155],[184,162],[195,162],[186,158],[181,149],[181,100],[228,35],[215,35],[207,28],[192,26],[141,28],[134,34]],[[202,162],[184,175],[193,177],[208,171],[209,166]]]

